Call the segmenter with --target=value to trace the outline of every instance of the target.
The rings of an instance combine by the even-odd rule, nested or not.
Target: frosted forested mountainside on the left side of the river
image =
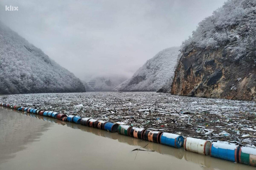
[[[0,22],[0,94],[85,92],[82,82]]]

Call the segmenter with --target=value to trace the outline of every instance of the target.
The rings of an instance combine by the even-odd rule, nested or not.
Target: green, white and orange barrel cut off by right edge
[[[241,147],[239,150],[239,162],[256,166],[256,149],[252,147]]]

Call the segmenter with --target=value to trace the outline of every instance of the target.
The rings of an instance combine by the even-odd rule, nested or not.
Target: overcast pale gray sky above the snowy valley
[[[160,50],[181,45],[224,1],[1,0],[0,20],[82,80],[130,77]]]

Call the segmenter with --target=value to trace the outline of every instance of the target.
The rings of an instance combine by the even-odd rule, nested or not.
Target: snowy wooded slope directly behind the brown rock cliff
[[[170,81],[179,55],[179,47],[160,51],[138,69],[129,80],[124,81],[116,91],[157,91]]]

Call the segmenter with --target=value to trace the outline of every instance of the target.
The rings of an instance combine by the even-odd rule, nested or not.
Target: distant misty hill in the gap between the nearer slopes
[[[113,91],[117,85],[124,82],[126,79],[126,77],[122,76],[101,76],[91,79],[87,84],[93,88],[94,91]]]

